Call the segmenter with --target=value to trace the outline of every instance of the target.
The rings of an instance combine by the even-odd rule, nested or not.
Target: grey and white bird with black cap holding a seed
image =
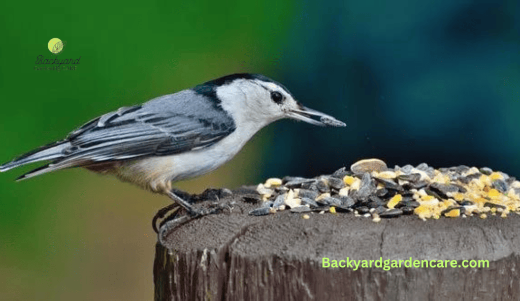
[[[16,179],[21,181],[83,167],[166,195],[197,216],[202,213],[173,191],[172,182],[218,168],[256,132],[282,118],[317,126],[346,126],[303,106],[275,80],[237,73],[94,118],[63,140],[4,163],[0,172],[50,161]]]

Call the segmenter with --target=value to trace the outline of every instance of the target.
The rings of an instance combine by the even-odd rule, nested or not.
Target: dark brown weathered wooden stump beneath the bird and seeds
[[[382,219],[353,213],[231,212],[167,231],[157,243],[155,300],[488,300],[520,298],[520,216]],[[323,267],[330,260],[487,260],[488,267]],[[469,264],[469,263],[467,263]]]

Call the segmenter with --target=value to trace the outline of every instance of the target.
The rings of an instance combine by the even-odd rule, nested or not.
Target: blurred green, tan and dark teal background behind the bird
[[[389,166],[489,166],[520,175],[520,5],[499,1],[0,4],[0,161],[98,115],[236,72],[263,73],[347,122],[279,121],[199,193]],[[75,71],[35,71],[47,43]],[[149,300],[161,196],[82,169],[0,174],[0,300]]]

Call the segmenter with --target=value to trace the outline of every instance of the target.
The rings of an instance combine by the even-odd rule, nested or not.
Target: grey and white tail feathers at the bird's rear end
[[[69,146],[70,146],[70,142],[60,141],[60,142],[54,142],[51,144],[47,144],[42,147],[38,147],[27,154],[24,154],[8,163],[3,164],[2,166],[0,166],[0,172],[8,171],[12,168],[19,167],[19,166],[29,164],[29,163],[33,163],[33,162],[44,161],[44,160],[56,160],[56,159],[63,158],[65,156],[65,154],[63,154],[63,150]],[[45,166],[45,167],[38,168],[36,170],[33,170],[33,171],[29,172],[29,174],[33,173],[33,172],[37,172],[37,171],[43,171],[42,169],[50,167],[51,165],[52,164]],[[41,174],[41,173],[43,173],[43,172],[39,172],[37,174]],[[37,175],[37,174],[34,174],[34,175]]]

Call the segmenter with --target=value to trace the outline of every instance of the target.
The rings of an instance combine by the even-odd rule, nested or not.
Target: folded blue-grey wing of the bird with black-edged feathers
[[[69,134],[64,160],[108,161],[164,156],[211,146],[235,130],[223,110],[139,105],[98,117]],[[191,104],[193,106],[193,104]],[[204,109],[204,103],[202,103]]]

